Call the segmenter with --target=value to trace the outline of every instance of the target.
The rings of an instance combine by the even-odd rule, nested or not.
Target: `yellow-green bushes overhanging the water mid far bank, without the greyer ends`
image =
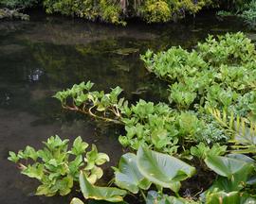
[[[76,15],[92,21],[100,19],[113,24],[126,23],[127,17],[140,17],[148,23],[167,22],[183,18],[185,13],[195,14],[204,7],[210,7],[210,0],[146,0],[146,1],[66,1],[45,0],[46,12],[60,12],[65,15]]]

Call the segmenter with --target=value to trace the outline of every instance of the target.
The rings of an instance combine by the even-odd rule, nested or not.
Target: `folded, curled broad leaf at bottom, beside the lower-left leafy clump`
[[[123,200],[123,196],[126,195],[126,191],[120,190],[114,187],[98,187],[92,185],[85,177],[80,173],[80,188],[82,195],[86,198],[92,198],[96,200],[107,200],[110,202],[120,202]]]

